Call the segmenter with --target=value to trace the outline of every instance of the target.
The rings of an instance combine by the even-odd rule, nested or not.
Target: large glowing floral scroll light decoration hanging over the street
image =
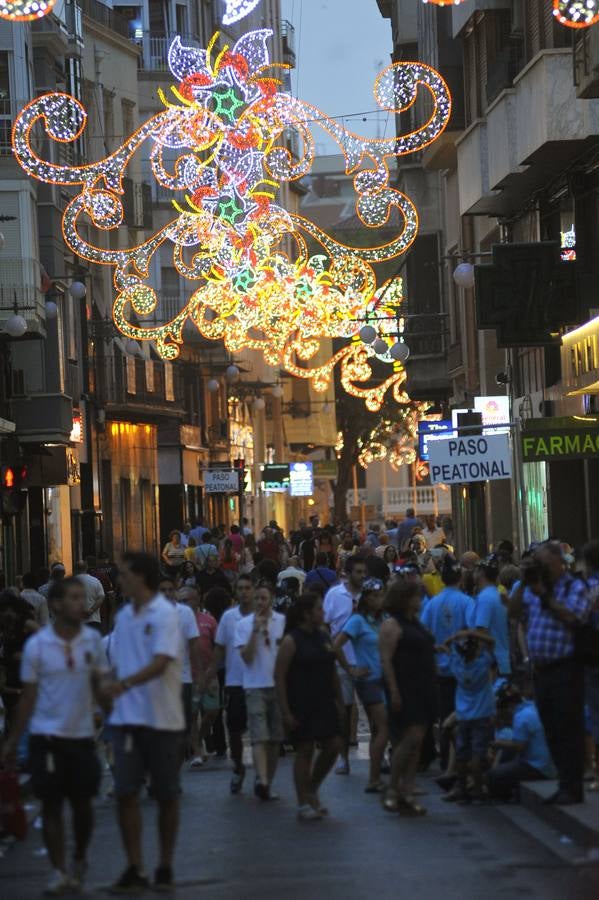
[[[422,150],[441,134],[451,113],[449,89],[422,63],[387,66],[374,86],[378,105],[397,116],[424,91],[430,115],[407,134],[360,137],[280,90],[267,49],[271,36],[268,29],[251,31],[233,47],[225,43],[220,49],[218,33],[206,49],[186,47],[176,37],[168,62],[177,83],[169,95],[158,89],[164,110],[113,154],[89,165],[58,165],[37,155],[32,132],[38,124],[54,141],[68,143],[80,137],[87,121],[74,97],[44,94],[16,119],[15,156],[41,181],[80,186],[63,215],[64,239],[79,257],[114,267],[113,318],[125,337],[154,341],[163,358],[175,359],[191,320],[205,338],[222,341],[230,353],[258,350],[269,365],[310,379],[318,391],[326,390],[339,365],[345,390],[363,398],[369,409],[380,409],[390,389],[398,402],[405,402],[405,372],[389,352],[396,336],[385,324],[391,307],[403,299],[401,280],[377,288],[373,264],[404,253],[416,237],[416,208],[391,187],[389,159]],[[364,226],[383,227],[398,211],[398,233],[386,243],[366,248],[342,244],[277,203],[283,183],[311,170],[313,126],[323,128],[343,151]],[[297,157],[287,148],[290,132],[299,137]],[[127,249],[90,243],[84,237],[90,222],[103,231],[122,223],[123,172],[144,143],[154,177],[173,192],[175,217]],[[169,161],[173,155],[174,163]],[[309,252],[308,239],[323,252]],[[176,269],[197,282],[197,288],[171,321],[157,325],[158,294],[147,278],[163,245],[172,245]],[[144,323],[151,314],[153,324]],[[372,346],[358,338],[364,322],[379,335]],[[310,368],[323,338],[349,343],[324,365]],[[391,372],[373,387],[375,358]]]

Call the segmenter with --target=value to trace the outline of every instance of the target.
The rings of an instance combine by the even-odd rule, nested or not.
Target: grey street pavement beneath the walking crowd
[[[360,756],[365,755],[365,746]],[[300,823],[295,816],[292,761],[276,779],[278,802],[252,794],[248,770],[242,795],[229,794],[227,763],[210,762],[183,776],[182,825],[176,857],[176,896],[182,900],[596,900],[599,867],[562,861],[503,815],[498,807],[443,803],[432,779],[420,779],[429,813],[404,819],[364,794],[366,761],[349,777],[332,774],[322,791],[330,817]],[[143,801],[146,866],[156,861],[155,814]],[[124,858],[114,805],[97,804],[87,895],[106,896]],[[41,832],[0,860],[0,896],[38,897],[48,876]],[[151,896],[151,893],[148,894]],[[154,895],[155,896],[155,895]]]

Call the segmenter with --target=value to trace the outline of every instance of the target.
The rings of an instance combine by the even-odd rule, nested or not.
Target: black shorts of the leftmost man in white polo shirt
[[[102,769],[93,738],[32,734],[29,768],[33,791],[40,800],[89,799],[100,788]]]

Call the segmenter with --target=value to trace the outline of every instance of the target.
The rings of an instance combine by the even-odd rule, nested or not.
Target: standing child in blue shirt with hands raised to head
[[[440,649],[451,645],[450,669],[457,681],[456,689],[456,770],[458,803],[482,802],[483,770],[493,740],[495,695],[491,672],[496,666],[493,638],[481,631],[458,631]],[[468,767],[471,767],[473,790],[468,793]]]

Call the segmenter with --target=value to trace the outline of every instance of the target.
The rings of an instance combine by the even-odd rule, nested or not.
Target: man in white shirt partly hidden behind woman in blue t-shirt
[[[324,598],[324,621],[328,625],[331,637],[336,638],[343,626],[353,614],[362,585],[368,574],[366,560],[362,556],[348,556],[345,561],[345,581],[329,588]],[[341,652],[351,666],[356,664],[356,656],[347,643]],[[351,732],[351,710],[354,704],[354,683],[351,676],[337,663],[337,675],[341,686],[345,721],[343,723],[343,754],[336,768],[338,775],[349,775],[349,742]]]

